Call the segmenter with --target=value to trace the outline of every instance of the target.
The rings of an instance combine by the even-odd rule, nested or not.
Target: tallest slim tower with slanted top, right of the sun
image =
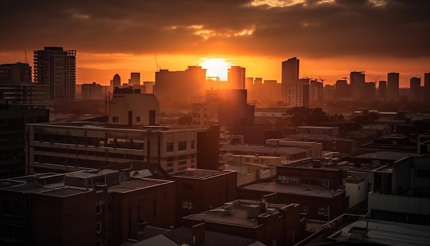
[[[293,85],[299,79],[299,59],[297,57],[289,58],[282,62],[282,98],[287,106],[291,106],[292,102],[292,89]]]

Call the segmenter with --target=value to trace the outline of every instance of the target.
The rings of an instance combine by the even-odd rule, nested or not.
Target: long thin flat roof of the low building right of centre
[[[308,197],[324,197],[332,198],[338,194],[343,193],[342,191],[332,190],[329,188],[324,188],[322,186],[310,186],[310,185],[295,185],[286,183],[277,183],[275,181],[263,182],[263,183],[253,183],[248,186],[242,187],[246,190],[258,190],[262,192],[277,192],[282,194],[295,194],[300,196]]]

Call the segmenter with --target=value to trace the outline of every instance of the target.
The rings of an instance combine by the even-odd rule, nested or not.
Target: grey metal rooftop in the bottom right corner
[[[359,219],[346,227],[343,227],[341,234],[333,237],[338,240],[350,238],[352,227],[366,227],[367,221]],[[430,245],[430,227],[425,225],[411,225],[404,223],[394,223],[388,221],[369,220],[367,239],[385,245]]]

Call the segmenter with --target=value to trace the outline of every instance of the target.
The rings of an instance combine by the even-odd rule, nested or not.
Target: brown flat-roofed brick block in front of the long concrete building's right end
[[[167,179],[176,185],[176,226],[182,217],[217,208],[236,199],[237,174],[234,170],[190,168],[175,172]]]

